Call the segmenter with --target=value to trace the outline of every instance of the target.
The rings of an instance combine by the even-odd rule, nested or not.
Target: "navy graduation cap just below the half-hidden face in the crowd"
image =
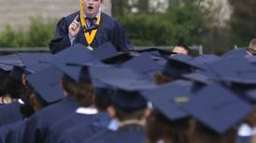
[[[180,77],[182,74],[190,73],[194,69],[200,69],[201,67],[193,61],[195,60],[190,56],[174,55],[167,58],[162,73],[165,76]]]

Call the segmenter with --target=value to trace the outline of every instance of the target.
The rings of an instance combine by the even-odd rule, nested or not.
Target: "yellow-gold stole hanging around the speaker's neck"
[[[82,1],[83,1],[83,0],[80,0],[80,20],[81,20],[82,26],[87,27],[86,20],[84,20],[84,17],[83,17],[83,5],[82,5]],[[98,19],[97,19],[97,21],[96,21],[96,24],[97,24],[97,25],[100,24],[100,20],[101,20],[101,14],[99,14]],[[92,23],[91,23],[91,24],[92,24]],[[91,34],[90,34],[89,32],[85,32],[85,33],[84,33],[84,37],[85,37],[85,39],[86,39],[86,41],[87,41],[88,46],[91,46],[92,41],[93,41],[93,39],[94,39],[96,33],[97,33],[97,30],[92,30]]]

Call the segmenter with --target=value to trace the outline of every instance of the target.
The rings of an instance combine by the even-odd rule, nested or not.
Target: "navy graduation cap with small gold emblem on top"
[[[145,91],[142,93],[164,116],[171,120],[177,121],[184,119],[189,114],[182,110],[179,106],[190,100],[192,93],[184,90],[179,84],[164,84],[156,89]]]

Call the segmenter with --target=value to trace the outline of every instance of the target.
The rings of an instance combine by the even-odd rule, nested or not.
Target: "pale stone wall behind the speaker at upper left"
[[[59,20],[78,9],[79,0],[0,0],[0,32],[7,23],[13,28],[27,28],[30,18]],[[103,9],[111,13],[111,0],[105,0]]]

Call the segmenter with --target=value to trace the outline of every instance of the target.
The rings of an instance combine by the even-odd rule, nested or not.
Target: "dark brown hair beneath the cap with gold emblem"
[[[192,119],[170,121],[156,110],[151,112],[147,126],[147,143],[164,139],[167,143],[190,143],[192,141]]]

